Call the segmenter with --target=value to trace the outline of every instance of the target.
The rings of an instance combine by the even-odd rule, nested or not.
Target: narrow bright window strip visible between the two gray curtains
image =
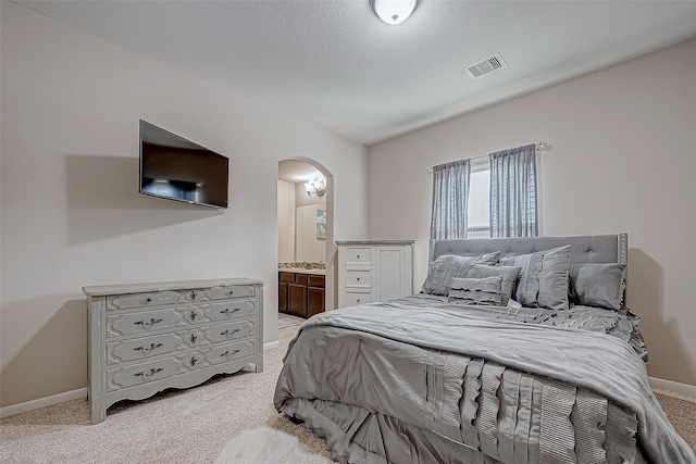
[[[467,238],[490,237],[490,166],[488,159],[472,160],[469,180]]]

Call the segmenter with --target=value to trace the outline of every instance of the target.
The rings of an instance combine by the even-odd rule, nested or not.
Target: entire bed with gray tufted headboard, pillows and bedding
[[[432,241],[420,293],[300,327],[275,409],[341,463],[694,463],[626,269],[625,234]]]

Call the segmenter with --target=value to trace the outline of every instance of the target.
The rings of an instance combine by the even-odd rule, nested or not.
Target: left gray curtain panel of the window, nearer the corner
[[[433,167],[433,217],[431,239],[467,238],[469,198],[469,160]]]

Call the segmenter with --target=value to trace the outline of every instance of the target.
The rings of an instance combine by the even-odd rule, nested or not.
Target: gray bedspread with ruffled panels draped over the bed
[[[696,462],[630,317],[591,313],[423,296],[323,313],[290,342],[274,405],[339,462]]]

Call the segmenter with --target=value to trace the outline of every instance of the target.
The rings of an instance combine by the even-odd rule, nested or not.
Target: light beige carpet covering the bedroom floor
[[[269,426],[296,436],[302,450],[330,457],[324,441],[273,409],[282,358],[297,325],[279,330],[281,346],[264,354],[264,372],[214,378],[188,390],[123,402],[107,421],[89,424],[89,403],[67,401],[0,421],[0,462],[213,463],[244,430]],[[696,450],[696,403],[657,396],[668,417]]]

